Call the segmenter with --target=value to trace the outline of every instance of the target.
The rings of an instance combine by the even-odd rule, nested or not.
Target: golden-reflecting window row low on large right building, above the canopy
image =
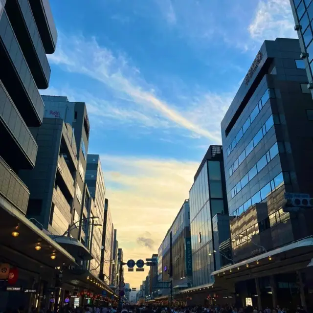
[[[233,246],[240,245],[246,241],[250,241],[251,238],[258,234],[262,233],[265,230],[281,223],[286,223],[290,219],[290,214],[283,211],[283,209],[279,209],[278,211],[270,214],[268,217],[266,217],[261,222],[258,222],[246,230],[244,230],[242,233],[239,234],[239,236],[236,237],[236,241],[234,242]]]

